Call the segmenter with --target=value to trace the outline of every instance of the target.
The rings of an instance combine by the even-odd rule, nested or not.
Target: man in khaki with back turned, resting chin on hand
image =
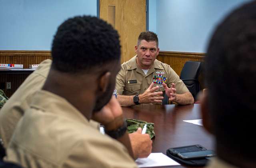
[[[46,81],[18,122],[5,160],[32,168],[137,167],[122,108],[112,97],[119,62],[112,26],[90,16],[62,23]],[[105,135],[91,119],[104,125]]]

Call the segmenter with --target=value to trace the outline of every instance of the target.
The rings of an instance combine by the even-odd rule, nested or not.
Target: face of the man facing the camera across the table
[[[142,69],[150,69],[153,65],[156,56],[159,54],[159,48],[155,41],[147,42],[141,40],[139,46],[135,46],[135,53],[137,54],[137,64]]]

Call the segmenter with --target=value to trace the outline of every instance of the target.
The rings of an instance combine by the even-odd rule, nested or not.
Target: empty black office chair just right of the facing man
[[[200,91],[200,83],[198,81],[198,76],[201,71],[202,62],[198,61],[187,61],[182,71],[180,72],[180,79],[187,86],[188,90],[191,92],[194,100]]]

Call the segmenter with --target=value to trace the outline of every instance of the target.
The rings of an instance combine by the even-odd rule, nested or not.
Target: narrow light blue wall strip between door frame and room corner
[[[148,30],[156,32],[156,0],[148,1]]]

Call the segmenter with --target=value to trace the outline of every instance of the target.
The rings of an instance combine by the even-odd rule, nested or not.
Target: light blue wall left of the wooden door
[[[0,0],[0,50],[50,50],[57,27],[97,15],[97,0]]]

